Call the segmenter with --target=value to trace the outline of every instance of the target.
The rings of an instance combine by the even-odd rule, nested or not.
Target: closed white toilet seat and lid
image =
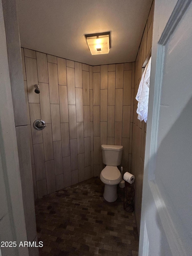
[[[117,166],[107,165],[101,171],[100,179],[105,184],[117,185],[121,181],[121,173]]]

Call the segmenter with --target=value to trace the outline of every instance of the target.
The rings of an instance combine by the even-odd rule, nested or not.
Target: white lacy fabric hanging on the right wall
[[[149,102],[149,82],[150,82],[150,72],[151,72],[151,58],[145,67],[145,71],[141,77],[139,84],[139,89],[137,92],[136,100],[138,101],[137,105],[137,114],[140,121],[144,120],[147,122],[147,113],[148,113],[148,102]]]

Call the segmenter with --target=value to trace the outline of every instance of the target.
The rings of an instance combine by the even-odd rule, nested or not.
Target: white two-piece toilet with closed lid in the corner
[[[100,179],[105,184],[104,199],[107,202],[117,200],[117,185],[121,182],[121,173],[117,168],[121,164],[123,146],[101,145],[103,163],[106,167],[101,171]]]

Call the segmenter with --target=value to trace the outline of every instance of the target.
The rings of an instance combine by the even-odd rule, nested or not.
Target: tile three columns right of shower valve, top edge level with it
[[[70,155],[69,123],[61,123],[61,141],[63,157]]]

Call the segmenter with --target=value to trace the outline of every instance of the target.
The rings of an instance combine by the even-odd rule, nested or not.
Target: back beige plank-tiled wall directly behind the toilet
[[[134,69],[134,62],[93,66],[94,176],[104,168],[102,144],[122,145],[124,172],[131,168]]]

